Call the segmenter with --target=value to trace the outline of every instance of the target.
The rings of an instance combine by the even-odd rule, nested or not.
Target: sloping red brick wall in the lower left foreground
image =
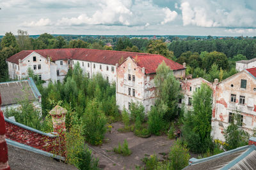
[[[11,124],[10,122],[5,122],[5,124],[7,131],[6,138],[65,157],[65,135],[51,138]]]

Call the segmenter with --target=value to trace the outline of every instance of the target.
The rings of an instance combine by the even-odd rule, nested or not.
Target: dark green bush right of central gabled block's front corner
[[[156,106],[148,113],[148,131],[150,134],[160,135],[163,129],[163,115],[157,111]]]

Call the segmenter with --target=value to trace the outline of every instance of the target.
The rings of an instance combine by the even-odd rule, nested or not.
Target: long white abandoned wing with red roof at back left
[[[116,81],[116,64],[136,55],[151,54],[86,48],[23,50],[9,57],[6,62],[10,78],[21,80],[28,76],[30,67],[35,78],[46,81],[45,86],[49,81],[63,81],[68,69],[73,68],[77,62],[89,78],[101,73],[112,83]]]

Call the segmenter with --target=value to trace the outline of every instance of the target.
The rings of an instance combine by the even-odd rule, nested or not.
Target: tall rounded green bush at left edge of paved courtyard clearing
[[[86,141],[93,145],[100,145],[106,133],[106,117],[99,109],[99,102],[93,99],[89,103],[83,117],[84,135]]]

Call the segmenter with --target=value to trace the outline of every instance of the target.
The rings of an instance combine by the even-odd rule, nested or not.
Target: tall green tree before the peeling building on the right
[[[213,150],[211,139],[212,90],[203,83],[194,92],[193,111],[184,118],[183,136],[192,152],[204,153],[207,148]]]

